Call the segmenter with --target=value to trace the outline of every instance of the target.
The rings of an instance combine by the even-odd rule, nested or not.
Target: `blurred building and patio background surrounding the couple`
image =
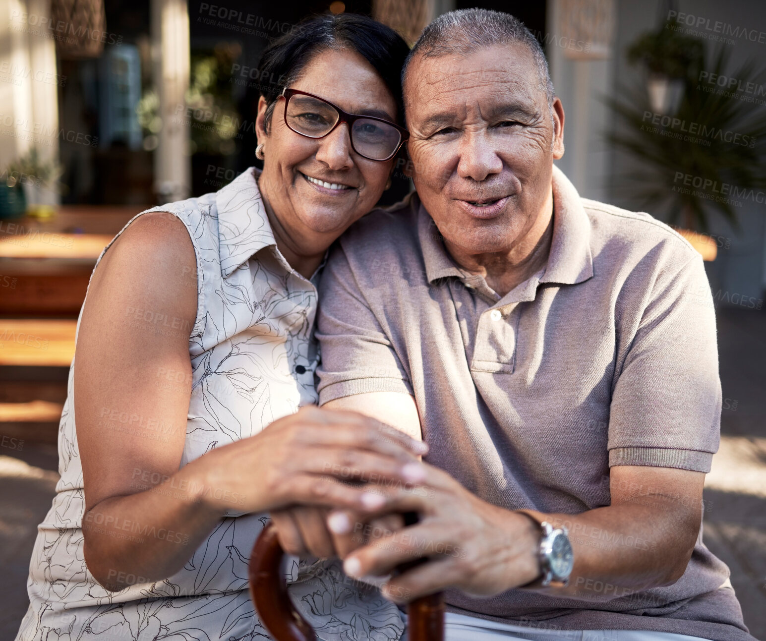
[[[581,195],[649,211],[705,257],[719,318],[722,448],[705,542],[766,636],[766,4],[761,0],[0,0],[0,639],[26,609],[34,529],[90,272],[143,208],[256,163],[260,53],[315,12],[408,41],[444,11],[508,11],[565,107]],[[384,196],[401,198],[398,176]]]

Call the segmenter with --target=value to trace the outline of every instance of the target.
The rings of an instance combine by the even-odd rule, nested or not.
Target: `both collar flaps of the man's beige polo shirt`
[[[591,221],[582,205],[575,185],[553,166],[553,237],[548,263],[540,283],[574,285],[593,276],[591,253]],[[420,199],[414,199],[418,207],[417,234],[423,250],[426,276],[429,283],[445,276],[465,279],[452,260],[441,240],[439,228],[430,217]]]

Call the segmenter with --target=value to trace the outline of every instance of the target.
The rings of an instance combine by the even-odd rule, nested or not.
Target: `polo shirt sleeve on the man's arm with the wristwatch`
[[[719,446],[721,382],[702,258],[666,265],[647,298],[612,394],[609,464],[707,473]]]

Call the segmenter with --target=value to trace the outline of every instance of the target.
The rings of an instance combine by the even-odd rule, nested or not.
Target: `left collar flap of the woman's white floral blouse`
[[[215,195],[218,252],[224,277],[264,247],[277,247],[255,172],[254,167],[248,168]]]

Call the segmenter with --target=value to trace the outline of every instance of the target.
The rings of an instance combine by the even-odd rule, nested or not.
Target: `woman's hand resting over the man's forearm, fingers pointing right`
[[[425,449],[362,414],[309,406],[187,467],[194,466],[199,479],[198,499],[221,514],[234,507],[269,512],[296,504],[368,513],[385,511],[394,495],[344,481],[418,482],[424,472],[416,457]],[[317,515],[310,518],[316,521]]]

